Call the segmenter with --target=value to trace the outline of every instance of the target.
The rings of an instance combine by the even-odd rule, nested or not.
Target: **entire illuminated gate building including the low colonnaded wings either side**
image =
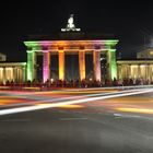
[[[153,81],[152,50],[145,51],[145,55],[138,52],[138,58],[141,60],[116,60],[118,39],[113,35],[81,32],[81,28],[76,28],[73,23],[73,14],[60,33],[31,35],[24,44],[27,48],[27,62],[5,62],[5,56],[0,54],[0,83],[5,83],[7,80],[14,82],[52,80],[51,69],[55,61],[52,62],[51,57],[54,56],[57,57],[58,66],[55,79],[67,80],[70,73],[67,67],[72,64],[72,62],[67,63],[69,55],[76,55],[78,59],[78,66],[72,68],[73,73],[78,71],[78,76],[71,79]],[[89,55],[92,60],[87,59]],[[42,57],[42,63],[38,62],[38,57]],[[89,67],[91,67],[90,76]],[[40,73],[38,68],[42,70]]]

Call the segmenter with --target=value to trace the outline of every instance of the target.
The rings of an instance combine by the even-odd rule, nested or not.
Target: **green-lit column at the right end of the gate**
[[[117,63],[116,63],[116,49],[108,50],[108,66],[109,66],[109,79],[117,79]]]

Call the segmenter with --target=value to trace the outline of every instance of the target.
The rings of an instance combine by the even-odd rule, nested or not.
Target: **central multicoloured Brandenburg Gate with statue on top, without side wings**
[[[103,39],[87,37],[84,33],[75,28],[73,24],[73,15],[71,14],[66,28],[61,28],[60,37],[54,39],[27,40],[24,42],[27,47],[27,76],[26,80],[33,81],[36,79],[36,56],[43,54],[43,82],[50,80],[50,56],[58,54],[58,78],[66,79],[64,73],[64,57],[67,54],[79,55],[79,78],[84,80],[85,76],[85,54],[93,56],[93,78],[101,81],[101,54],[107,56],[108,78],[117,78],[116,63],[116,45],[117,39]],[[69,36],[69,37],[68,37]],[[75,68],[74,68],[75,69]]]

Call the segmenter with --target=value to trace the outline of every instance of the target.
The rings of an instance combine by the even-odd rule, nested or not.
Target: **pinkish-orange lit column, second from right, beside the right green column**
[[[101,81],[101,51],[93,51],[94,80]]]

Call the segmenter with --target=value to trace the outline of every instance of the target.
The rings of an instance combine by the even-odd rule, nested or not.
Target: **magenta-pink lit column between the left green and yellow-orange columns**
[[[43,82],[50,80],[50,52],[43,52]]]

